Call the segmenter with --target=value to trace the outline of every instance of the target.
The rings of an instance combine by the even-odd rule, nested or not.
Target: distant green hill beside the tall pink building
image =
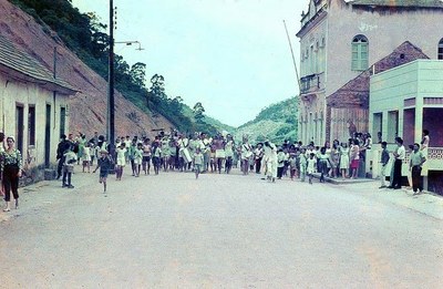
[[[239,126],[235,132],[236,140],[248,135],[251,143],[262,142],[265,138],[275,143],[297,141],[297,112],[296,97],[271,104],[262,109],[254,121]]]

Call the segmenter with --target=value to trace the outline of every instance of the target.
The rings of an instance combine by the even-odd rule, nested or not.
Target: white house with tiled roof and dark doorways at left
[[[0,37],[0,130],[16,137],[25,172],[55,164],[76,90],[35,58]],[[41,177],[41,176],[40,176]]]

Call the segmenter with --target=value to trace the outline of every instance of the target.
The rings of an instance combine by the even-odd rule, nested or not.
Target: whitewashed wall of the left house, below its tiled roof
[[[51,126],[50,126],[50,162],[55,164],[55,152],[60,141],[60,110],[66,109],[66,123],[69,127],[69,97],[56,95],[53,92],[42,89],[33,83],[18,82],[7,79],[0,74],[0,130],[7,136],[12,135],[17,138],[18,131],[23,132],[23,164],[25,168],[44,165],[45,147],[45,111],[47,104],[51,105]],[[23,127],[17,127],[17,105],[23,107]],[[29,107],[35,107],[35,145],[29,144]]]

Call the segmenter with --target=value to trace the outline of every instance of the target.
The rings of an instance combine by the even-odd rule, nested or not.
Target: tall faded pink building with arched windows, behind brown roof
[[[368,106],[337,109],[328,99],[405,41],[431,59],[443,59],[442,17],[443,2],[436,0],[310,0],[297,33],[299,140],[322,145],[346,141],[349,127],[368,132]]]

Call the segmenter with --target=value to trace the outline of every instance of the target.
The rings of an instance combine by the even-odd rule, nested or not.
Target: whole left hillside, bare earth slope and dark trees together
[[[43,60],[43,64],[49,68],[52,68],[52,49],[47,48],[61,45],[71,50],[74,54],[71,55],[71,51],[66,51],[58,62],[60,76],[68,79],[83,94],[74,97],[71,103],[71,124],[74,125],[71,128],[85,131],[87,127],[103,132],[110,39],[106,24],[101,23],[93,12],[80,13],[70,0],[9,0],[9,2],[30,14],[33,20],[29,20],[22,11],[13,10],[6,0],[0,0],[0,6],[4,10],[0,19],[2,25],[0,34],[37,59]],[[8,16],[4,19],[3,13]],[[63,53],[62,49],[59,53]],[[83,63],[79,63],[79,59]],[[116,95],[115,123],[119,134],[131,127],[136,128],[134,133],[143,133],[141,132],[143,127],[168,130],[169,126],[181,131],[219,130],[206,123],[205,117],[200,117],[204,116],[204,110],[193,112],[190,116],[186,114],[182,97],[166,94],[167,75],[146,75],[146,65],[150,63],[138,62],[130,65],[121,55],[115,55],[115,89],[121,93]],[[91,106],[91,103],[96,103],[99,106]],[[195,113],[197,118],[194,117]]]

